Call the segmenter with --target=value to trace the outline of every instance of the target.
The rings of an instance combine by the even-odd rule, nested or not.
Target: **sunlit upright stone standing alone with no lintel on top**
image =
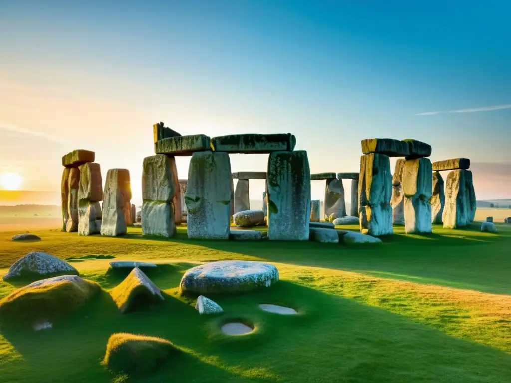
[[[129,170],[109,169],[106,174],[105,190],[103,193],[101,235],[117,236],[126,234],[126,209],[128,208],[127,202],[130,200],[131,185]]]

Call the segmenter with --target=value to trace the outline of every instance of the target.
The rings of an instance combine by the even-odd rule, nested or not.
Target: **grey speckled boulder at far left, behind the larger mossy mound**
[[[41,279],[45,276],[64,274],[78,275],[79,273],[73,266],[53,255],[34,251],[14,262],[7,274],[4,275],[4,280]]]

